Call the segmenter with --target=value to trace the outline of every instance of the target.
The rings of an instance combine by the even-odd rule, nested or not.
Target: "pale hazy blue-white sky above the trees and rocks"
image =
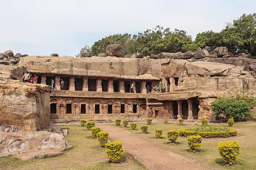
[[[256,13],[254,0],[0,0],[0,52],[75,56],[108,35],[157,25],[220,32],[226,22]]]

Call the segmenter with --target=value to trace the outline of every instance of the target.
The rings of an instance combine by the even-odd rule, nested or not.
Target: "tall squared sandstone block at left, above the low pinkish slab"
[[[38,131],[50,123],[50,86],[0,80],[0,132]]]

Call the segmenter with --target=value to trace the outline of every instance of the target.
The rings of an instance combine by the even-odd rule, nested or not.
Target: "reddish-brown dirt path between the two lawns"
[[[132,132],[108,124],[97,124],[102,131],[108,131],[112,140],[123,142],[126,152],[149,170],[167,169],[218,169],[191,157],[172,151],[160,144],[137,136]]]

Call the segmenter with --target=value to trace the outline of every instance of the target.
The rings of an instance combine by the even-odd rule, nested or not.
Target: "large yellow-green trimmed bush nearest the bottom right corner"
[[[218,143],[218,150],[224,162],[233,165],[240,153],[240,143],[238,142],[220,142]]]

